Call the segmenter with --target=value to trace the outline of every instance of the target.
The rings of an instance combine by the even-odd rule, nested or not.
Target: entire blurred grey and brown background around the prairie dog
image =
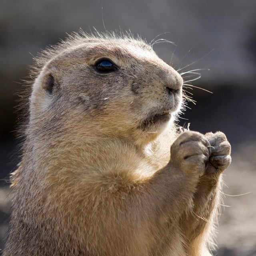
[[[131,30],[180,72],[201,68],[181,126],[221,130],[232,145],[218,227],[218,256],[256,255],[256,1],[255,0],[1,0],[0,1],[0,248],[10,213],[9,173],[18,164],[15,112],[22,78],[37,52],[66,33]],[[104,22],[103,22],[104,21]],[[208,70],[210,69],[210,70]],[[241,195],[242,194],[242,195]]]

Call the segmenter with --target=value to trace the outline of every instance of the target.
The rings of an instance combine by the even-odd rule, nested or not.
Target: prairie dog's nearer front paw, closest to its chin
[[[210,154],[210,143],[199,132],[186,131],[171,146],[171,162],[188,175],[202,176]]]

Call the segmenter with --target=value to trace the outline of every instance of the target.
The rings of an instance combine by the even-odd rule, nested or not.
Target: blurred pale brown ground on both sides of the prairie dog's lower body
[[[225,172],[224,205],[218,225],[218,256],[256,256],[256,144],[241,145]],[[226,194],[226,195],[225,195]],[[10,212],[10,190],[0,189],[0,248]]]

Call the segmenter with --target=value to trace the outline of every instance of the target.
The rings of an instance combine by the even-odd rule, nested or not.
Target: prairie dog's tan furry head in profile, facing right
[[[38,66],[29,125],[44,138],[66,131],[144,144],[180,110],[181,76],[142,40],[75,35],[46,50]]]

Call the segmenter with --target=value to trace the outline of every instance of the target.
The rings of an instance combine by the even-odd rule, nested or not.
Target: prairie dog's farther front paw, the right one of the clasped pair
[[[205,134],[211,145],[210,164],[218,170],[219,173],[228,168],[231,163],[231,146],[223,132],[208,132]],[[208,168],[212,171],[211,168]]]

